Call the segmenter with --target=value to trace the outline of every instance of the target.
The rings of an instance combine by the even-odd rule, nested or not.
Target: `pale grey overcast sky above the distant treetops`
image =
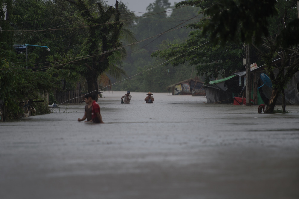
[[[115,6],[115,0],[106,0],[108,1],[108,5]],[[122,1],[130,11],[135,12],[135,15],[141,16],[143,13],[146,12],[146,8],[150,3],[155,2],[155,0],[118,0],[118,2]],[[174,3],[178,3],[182,0],[168,0],[171,3],[171,6]]]

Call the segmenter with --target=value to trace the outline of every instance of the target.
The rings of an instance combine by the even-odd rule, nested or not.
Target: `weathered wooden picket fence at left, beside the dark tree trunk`
[[[57,91],[56,100],[60,103],[80,103],[83,102],[79,89],[74,91]]]

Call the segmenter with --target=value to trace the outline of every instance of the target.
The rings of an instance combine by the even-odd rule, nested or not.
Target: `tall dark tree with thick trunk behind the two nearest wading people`
[[[121,56],[120,33],[123,23],[120,22],[118,1],[116,1],[115,8],[110,6],[107,10],[101,3],[97,3],[94,11],[89,10],[82,0],[74,4],[87,26],[83,28],[86,40],[80,50],[80,56],[87,57],[87,59],[80,59],[77,61],[78,64],[69,66],[75,67],[75,70],[85,77],[88,92],[97,92],[97,78],[109,68],[109,60],[111,60],[109,57],[113,56],[112,60],[115,62],[115,59]]]

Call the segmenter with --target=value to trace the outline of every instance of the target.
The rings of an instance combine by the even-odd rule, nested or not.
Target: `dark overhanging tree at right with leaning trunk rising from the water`
[[[208,3],[182,1],[177,6],[188,4],[202,8],[205,20],[191,27],[202,28],[202,36],[208,35],[213,45],[242,42],[252,44],[259,51],[273,83],[272,95],[265,111],[272,113],[283,87],[299,69],[299,19],[294,12],[297,8],[295,3],[275,0],[221,0]],[[275,56],[282,58],[280,65],[272,64]],[[279,68],[278,74],[274,74],[274,67]]]

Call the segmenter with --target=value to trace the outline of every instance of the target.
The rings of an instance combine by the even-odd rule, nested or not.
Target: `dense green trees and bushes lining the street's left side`
[[[97,91],[99,74],[123,72],[113,70],[113,67],[118,67],[125,53],[121,42],[125,37],[123,32],[130,37],[123,24],[129,27],[130,23],[120,22],[118,7],[106,7],[99,2],[96,7],[89,7],[87,1],[81,0],[1,1],[1,5],[6,2],[10,9],[9,19],[1,18],[4,31],[0,33],[4,41],[1,43],[0,99],[6,106],[10,102],[18,104],[21,98],[34,98],[42,89],[54,91],[58,87],[65,88],[66,82],[77,84],[80,74],[90,82],[89,91]],[[123,4],[121,8],[126,9]],[[3,16],[3,10],[0,14]],[[33,46],[28,47],[28,53],[16,54],[13,44],[48,46],[51,51]],[[13,76],[9,76],[10,73]],[[13,82],[6,77],[11,77]],[[57,83],[60,80],[65,82],[63,87]],[[28,89],[24,89],[24,83],[28,84]],[[21,97],[16,88],[22,89]],[[11,90],[16,92],[9,92]],[[31,92],[33,90],[36,92]],[[10,107],[15,107],[15,112],[21,114],[17,105]]]

